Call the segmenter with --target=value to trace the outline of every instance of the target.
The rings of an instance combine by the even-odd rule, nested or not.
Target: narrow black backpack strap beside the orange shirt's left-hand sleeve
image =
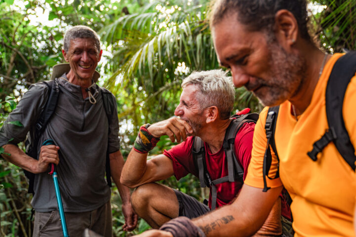
[[[274,106],[274,107],[269,107],[268,112],[267,112],[267,118],[266,118],[266,124],[265,124],[265,131],[266,131],[266,137],[267,137],[267,145],[266,145],[266,151],[265,151],[265,156],[264,156],[264,162],[263,162],[263,179],[264,179],[264,189],[263,192],[267,192],[270,187],[267,187],[267,181],[266,181],[266,176],[268,177],[268,172],[270,169],[270,166],[272,164],[272,154],[270,151],[270,147],[272,148],[274,154],[276,155],[278,162],[278,154],[277,154],[277,149],[275,146],[274,142],[274,133],[275,133],[275,127],[276,127],[276,122],[277,122],[277,117],[278,117],[278,111],[279,111],[279,106]],[[279,166],[277,169],[277,173],[274,176],[274,178],[269,179],[275,179],[279,177]]]

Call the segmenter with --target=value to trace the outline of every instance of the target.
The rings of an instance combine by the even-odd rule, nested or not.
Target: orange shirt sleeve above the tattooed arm
[[[261,112],[260,118],[255,126],[251,161],[245,179],[245,184],[256,188],[264,188],[263,161],[264,161],[265,151],[267,147],[267,137],[265,131],[267,112],[268,112],[268,107],[266,107]],[[272,163],[269,169],[268,176],[274,177],[278,169],[278,160],[272,150],[271,153],[272,153]],[[269,179],[266,177],[266,181],[267,181],[267,186],[271,188],[282,186],[282,182],[280,178]]]

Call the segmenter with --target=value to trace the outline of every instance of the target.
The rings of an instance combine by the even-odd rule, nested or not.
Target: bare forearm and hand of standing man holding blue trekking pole
[[[49,163],[58,164],[59,162],[59,147],[55,145],[42,146],[38,160],[27,156],[15,145],[7,144],[2,147],[4,148],[4,152],[9,154],[2,154],[4,159],[35,174],[47,171]]]

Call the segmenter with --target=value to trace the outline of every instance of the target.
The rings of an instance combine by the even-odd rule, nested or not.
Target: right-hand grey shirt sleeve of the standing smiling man
[[[120,150],[120,138],[119,138],[119,118],[117,113],[117,104],[115,96],[111,94],[111,99],[113,101],[113,112],[111,114],[110,124],[109,124],[109,153],[116,152]]]

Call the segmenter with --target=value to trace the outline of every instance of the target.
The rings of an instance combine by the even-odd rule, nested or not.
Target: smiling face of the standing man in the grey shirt
[[[95,46],[94,39],[76,38],[71,40],[68,52],[64,50],[62,52],[64,59],[70,64],[75,79],[92,79],[102,53]]]

